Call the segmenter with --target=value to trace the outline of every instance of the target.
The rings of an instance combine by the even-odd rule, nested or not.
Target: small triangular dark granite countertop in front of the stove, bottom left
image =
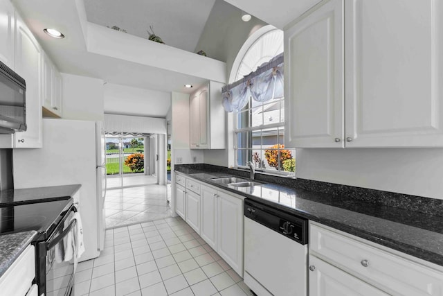
[[[0,235],[0,277],[33,240],[35,231]]]

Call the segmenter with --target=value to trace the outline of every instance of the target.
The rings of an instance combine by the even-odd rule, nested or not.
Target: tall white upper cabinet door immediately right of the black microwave
[[[15,67],[26,80],[26,132],[15,134],[15,148],[42,148],[42,49],[32,33],[17,17]]]

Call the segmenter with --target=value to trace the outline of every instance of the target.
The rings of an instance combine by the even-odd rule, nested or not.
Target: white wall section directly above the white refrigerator
[[[63,119],[103,121],[103,80],[62,73]]]

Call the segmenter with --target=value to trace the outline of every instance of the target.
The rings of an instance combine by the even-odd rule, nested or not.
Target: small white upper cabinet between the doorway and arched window
[[[222,83],[210,81],[190,95],[190,148],[223,149],[226,114],[221,105]]]

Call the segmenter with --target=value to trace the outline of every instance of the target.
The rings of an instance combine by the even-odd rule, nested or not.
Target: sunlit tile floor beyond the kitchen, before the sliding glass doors
[[[173,216],[167,196],[170,196],[170,184],[109,189],[105,198],[106,227]]]

